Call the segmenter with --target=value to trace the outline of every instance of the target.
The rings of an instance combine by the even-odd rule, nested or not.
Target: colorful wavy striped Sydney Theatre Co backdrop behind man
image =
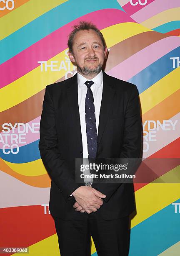
[[[138,87],[143,157],[180,158],[180,0],[1,0],[0,247],[60,255],[39,123],[45,86],[76,72],[67,35],[80,20],[105,37],[105,72]],[[164,178],[180,172],[179,162]],[[135,198],[130,256],[179,255],[180,184],[135,184]]]

